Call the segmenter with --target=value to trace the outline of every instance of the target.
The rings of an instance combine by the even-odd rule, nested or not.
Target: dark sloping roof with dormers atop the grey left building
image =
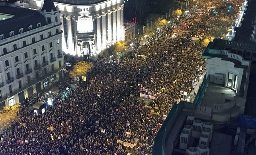
[[[3,34],[4,39],[10,37],[11,31],[14,31],[14,35],[19,34],[21,28],[23,28],[23,32],[29,31],[29,25],[32,25],[32,29],[37,27],[37,23],[41,23],[41,26],[47,25],[45,17],[36,10],[0,6],[0,14],[13,16],[0,20],[0,35]]]

